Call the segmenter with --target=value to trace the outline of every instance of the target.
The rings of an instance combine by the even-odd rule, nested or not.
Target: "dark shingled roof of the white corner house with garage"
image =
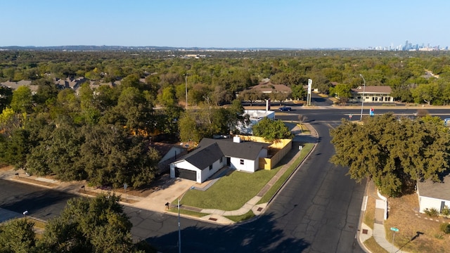
[[[198,148],[181,157],[199,169],[205,169],[221,157],[236,157],[247,160],[257,160],[259,151],[269,147],[269,143],[245,141],[234,143],[232,138],[203,138]]]

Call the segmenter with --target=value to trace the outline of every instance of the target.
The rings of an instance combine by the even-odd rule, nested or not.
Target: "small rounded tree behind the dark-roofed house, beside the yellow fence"
[[[288,126],[281,120],[273,120],[264,117],[257,124],[252,126],[254,136],[261,136],[266,141],[276,141],[282,138],[294,137],[293,133],[288,129]]]

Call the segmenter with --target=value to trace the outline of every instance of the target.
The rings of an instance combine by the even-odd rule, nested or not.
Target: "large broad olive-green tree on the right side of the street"
[[[336,150],[331,162],[349,167],[352,179],[372,179],[382,193],[399,196],[415,181],[439,181],[449,169],[450,134],[441,120],[397,120],[392,113],[366,119],[343,119],[330,131]]]

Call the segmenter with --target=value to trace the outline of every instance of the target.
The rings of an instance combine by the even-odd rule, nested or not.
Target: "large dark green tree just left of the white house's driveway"
[[[113,125],[82,127],[85,141],[80,148],[79,167],[86,171],[89,183],[139,187],[155,178],[158,153],[140,136],[129,136],[122,129]]]

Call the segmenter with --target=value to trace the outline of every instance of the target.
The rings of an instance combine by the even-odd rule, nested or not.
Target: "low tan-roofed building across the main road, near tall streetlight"
[[[390,86],[359,86],[352,89],[354,99],[364,103],[393,103],[394,98],[391,96],[392,89]]]

